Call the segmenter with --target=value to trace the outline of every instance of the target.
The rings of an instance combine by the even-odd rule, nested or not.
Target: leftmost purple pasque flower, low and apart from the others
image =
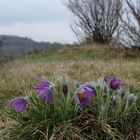
[[[9,106],[13,107],[17,112],[22,112],[26,108],[26,100],[18,97],[8,101]]]

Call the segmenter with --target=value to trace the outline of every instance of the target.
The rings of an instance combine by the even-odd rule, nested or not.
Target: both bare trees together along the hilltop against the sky
[[[84,43],[119,43],[140,49],[140,0],[65,0],[71,29]]]

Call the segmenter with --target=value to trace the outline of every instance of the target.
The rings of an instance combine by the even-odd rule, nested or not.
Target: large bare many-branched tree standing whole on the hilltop
[[[66,0],[76,17],[72,30],[82,41],[109,43],[120,22],[122,0]]]

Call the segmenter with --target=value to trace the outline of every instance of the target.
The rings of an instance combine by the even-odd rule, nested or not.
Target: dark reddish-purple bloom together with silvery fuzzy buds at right
[[[118,105],[118,108],[122,108],[125,105],[126,110],[137,100],[137,97],[125,87],[124,82],[116,77],[105,77],[100,79],[98,84],[103,90],[103,94],[111,97],[113,107]]]

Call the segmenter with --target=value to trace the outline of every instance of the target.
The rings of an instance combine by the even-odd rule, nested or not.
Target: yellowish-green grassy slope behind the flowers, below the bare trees
[[[93,81],[116,76],[140,96],[140,52],[110,46],[85,45],[32,54],[0,65],[1,107],[11,97],[32,89],[36,78],[68,77],[72,81]],[[3,129],[7,120],[1,117]]]

